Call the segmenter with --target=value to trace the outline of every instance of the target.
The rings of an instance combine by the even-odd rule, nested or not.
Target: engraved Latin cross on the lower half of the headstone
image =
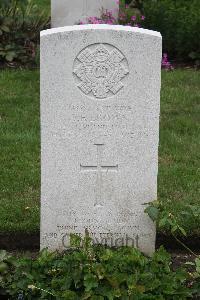
[[[96,172],[96,199],[94,206],[102,206],[102,173],[108,171],[118,171],[118,165],[103,165],[102,164],[102,152],[104,144],[94,144],[97,146],[97,164],[84,166],[80,164],[82,172]]]

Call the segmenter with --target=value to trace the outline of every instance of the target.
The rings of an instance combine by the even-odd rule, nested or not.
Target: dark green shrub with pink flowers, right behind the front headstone
[[[199,0],[144,0],[143,10],[146,17],[144,27],[161,32],[163,51],[169,54],[170,59],[179,61],[194,59],[198,62]]]

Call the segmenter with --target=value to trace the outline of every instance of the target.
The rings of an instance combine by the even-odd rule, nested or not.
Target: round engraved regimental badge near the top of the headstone
[[[78,54],[73,73],[84,94],[104,99],[124,87],[123,79],[129,70],[125,56],[117,48],[109,44],[94,44]]]

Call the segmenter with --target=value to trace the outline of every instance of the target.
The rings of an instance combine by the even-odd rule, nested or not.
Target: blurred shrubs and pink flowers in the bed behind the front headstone
[[[120,0],[118,20],[104,11],[88,23],[159,31],[170,60],[200,65],[200,0]],[[0,0],[0,66],[38,65],[39,32],[49,24],[50,0]]]

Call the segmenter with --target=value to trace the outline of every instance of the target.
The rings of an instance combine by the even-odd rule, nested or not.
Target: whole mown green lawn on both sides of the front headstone
[[[177,215],[200,204],[199,110],[200,72],[163,72],[158,192]],[[0,72],[0,139],[0,232],[38,231],[39,71]],[[187,226],[200,232],[200,220]]]

